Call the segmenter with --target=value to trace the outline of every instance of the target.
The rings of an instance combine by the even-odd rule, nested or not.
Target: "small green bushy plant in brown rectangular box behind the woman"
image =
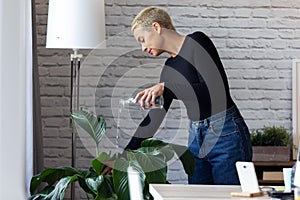
[[[290,161],[292,136],[283,127],[265,126],[251,134],[253,161]]]

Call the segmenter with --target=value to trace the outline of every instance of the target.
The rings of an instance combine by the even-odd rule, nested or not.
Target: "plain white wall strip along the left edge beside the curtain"
[[[0,199],[25,199],[25,1],[0,1]]]

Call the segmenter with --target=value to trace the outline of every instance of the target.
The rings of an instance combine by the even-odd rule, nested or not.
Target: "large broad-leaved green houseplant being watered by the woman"
[[[72,113],[72,120],[87,132],[96,143],[96,158],[89,169],[81,170],[72,167],[57,167],[46,169],[32,177],[30,184],[31,200],[63,199],[68,185],[78,182],[86,192],[88,199],[95,200],[129,200],[129,185],[127,168],[136,169],[140,174],[144,199],[152,199],[149,193],[150,183],[167,183],[167,161],[175,154],[179,156],[185,172],[191,176],[195,167],[194,158],[186,147],[168,144],[151,138],[144,140],[137,150],[127,150],[125,157],[98,152],[98,145],[105,133],[106,123],[87,111]],[[114,161],[112,174],[102,175],[105,162]],[[46,186],[37,191],[42,184]]]

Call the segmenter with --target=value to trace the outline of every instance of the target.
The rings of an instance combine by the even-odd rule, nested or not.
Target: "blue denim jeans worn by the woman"
[[[252,160],[248,127],[236,106],[190,123],[196,168],[189,184],[238,185],[235,163]]]

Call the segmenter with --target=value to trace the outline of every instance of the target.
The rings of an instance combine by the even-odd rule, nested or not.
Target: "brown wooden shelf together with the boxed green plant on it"
[[[282,126],[265,126],[251,134],[253,161],[259,184],[283,185],[283,168],[292,167],[292,136]]]

